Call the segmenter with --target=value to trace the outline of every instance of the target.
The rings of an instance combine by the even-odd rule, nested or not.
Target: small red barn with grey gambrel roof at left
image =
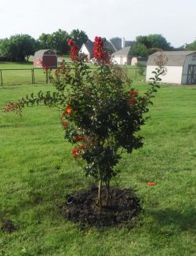
[[[34,66],[42,68],[47,66],[50,68],[57,67],[57,56],[52,49],[40,49],[34,53]]]

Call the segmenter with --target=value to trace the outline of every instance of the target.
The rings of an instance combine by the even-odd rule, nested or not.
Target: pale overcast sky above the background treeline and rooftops
[[[38,38],[59,28],[134,40],[161,34],[172,46],[196,39],[196,0],[0,0],[0,38]]]

